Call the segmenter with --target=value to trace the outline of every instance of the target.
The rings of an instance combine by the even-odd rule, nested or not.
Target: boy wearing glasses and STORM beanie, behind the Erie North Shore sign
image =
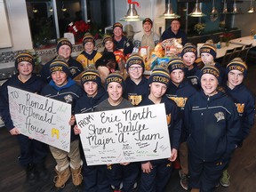
[[[126,62],[129,76],[125,79],[126,92],[124,98],[130,100],[133,106],[138,106],[144,97],[148,96],[148,79],[143,76],[144,61],[138,54],[132,54]]]

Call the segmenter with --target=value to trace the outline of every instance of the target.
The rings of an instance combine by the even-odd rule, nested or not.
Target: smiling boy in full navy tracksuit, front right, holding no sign
[[[234,102],[217,87],[220,71],[205,66],[200,71],[202,89],[187,101],[189,187],[191,191],[213,191],[236,148],[241,132]]]

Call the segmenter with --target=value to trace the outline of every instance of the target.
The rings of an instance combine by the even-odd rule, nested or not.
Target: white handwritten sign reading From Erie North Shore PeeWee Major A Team
[[[171,156],[164,104],[76,115],[88,165]]]

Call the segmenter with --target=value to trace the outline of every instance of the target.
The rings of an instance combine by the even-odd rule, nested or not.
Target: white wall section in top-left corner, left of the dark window
[[[0,49],[0,52],[32,49],[33,44],[25,0],[5,0],[4,2],[6,4],[12,34],[12,48]]]

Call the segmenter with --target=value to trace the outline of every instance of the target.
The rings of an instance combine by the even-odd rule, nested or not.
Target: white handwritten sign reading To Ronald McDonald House
[[[68,151],[71,105],[8,86],[12,122],[21,134]]]

